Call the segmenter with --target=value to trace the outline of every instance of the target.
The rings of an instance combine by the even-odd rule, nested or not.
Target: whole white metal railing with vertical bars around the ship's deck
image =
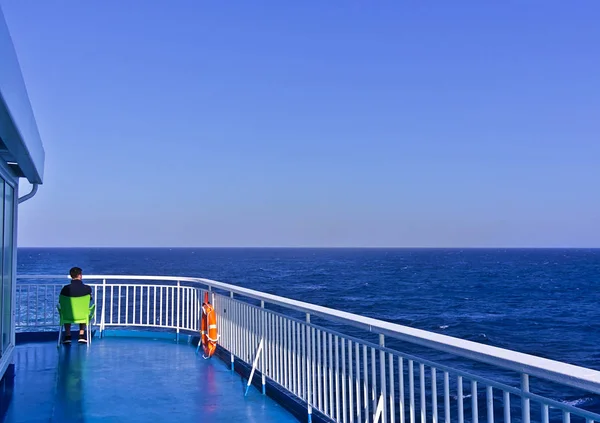
[[[45,281],[67,278],[18,279],[17,329],[56,327],[61,285]],[[232,362],[256,361],[263,385],[268,378],[300,398],[309,416],[318,410],[344,423],[600,421],[594,410],[564,401],[567,394],[600,393],[600,372],[592,369],[208,279],[85,279],[93,287],[101,331],[139,326],[198,332],[208,290],[219,343]],[[255,360],[261,340],[263,353]],[[445,361],[429,358],[440,353]]]

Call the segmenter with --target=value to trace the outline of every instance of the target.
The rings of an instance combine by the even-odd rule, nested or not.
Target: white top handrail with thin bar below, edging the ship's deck
[[[600,371],[575,366],[555,360],[524,354],[513,350],[480,344],[474,341],[441,335],[421,329],[390,323],[379,319],[364,317],[357,314],[335,310],[292,300],[273,294],[268,294],[237,285],[218,282],[205,278],[191,278],[178,276],[140,276],[140,275],[87,275],[86,280],[106,279],[107,283],[114,280],[144,280],[144,281],[171,281],[198,283],[203,286],[222,289],[245,297],[265,301],[269,304],[283,306],[289,309],[323,317],[325,319],[344,323],[349,326],[361,328],[369,332],[391,336],[396,339],[413,344],[433,348],[438,351],[448,352],[460,357],[492,364],[504,369],[519,373],[527,373],[563,385],[585,389],[590,392],[600,393]],[[69,279],[64,275],[23,275],[17,279]]]

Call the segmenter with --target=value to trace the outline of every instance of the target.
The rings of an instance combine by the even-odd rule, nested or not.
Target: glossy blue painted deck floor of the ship
[[[16,349],[6,422],[297,422],[216,358],[134,338]]]

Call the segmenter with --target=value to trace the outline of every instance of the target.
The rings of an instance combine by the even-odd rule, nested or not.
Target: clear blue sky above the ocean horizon
[[[600,2],[1,4],[22,246],[600,246]]]

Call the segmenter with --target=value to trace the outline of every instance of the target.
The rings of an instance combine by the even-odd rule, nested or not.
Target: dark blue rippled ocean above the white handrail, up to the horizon
[[[600,250],[20,248],[18,274],[206,277],[600,370]]]

